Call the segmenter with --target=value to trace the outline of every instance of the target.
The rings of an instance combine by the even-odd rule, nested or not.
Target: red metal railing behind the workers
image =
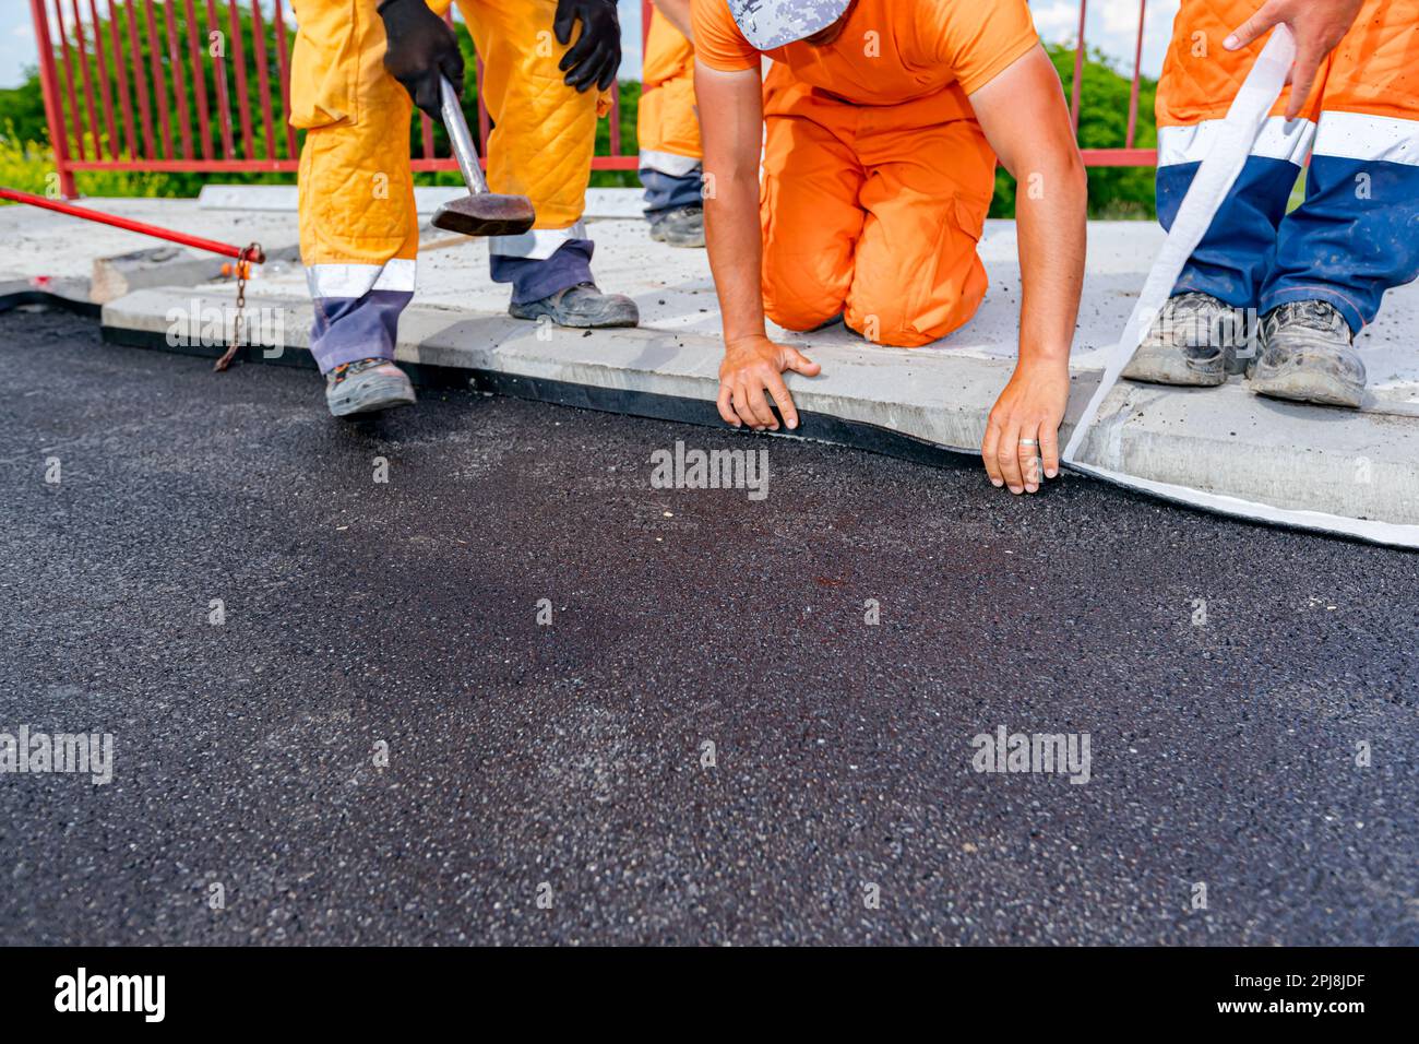
[[[288,1],[30,0],[60,192],[75,195],[77,170],[295,172]],[[1147,6],[1139,0],[1127,139],[1122,148],[1084,149],[1091,166],[1156,161],[1154,149],[1134,148]],[[643,45],[650,10],[641,0]],[[1080,0],[1070,88],[1076,131],[1087,11],[1088,0]],[[413,169],[457,170],[453,158],[436,155],[433,122],[417,119]],[[478,128],[487,152],[491,121],[481,99]],[[636,156],[622,152],[619,92],[609,131],[610,151],[593,169],[634,170]]]

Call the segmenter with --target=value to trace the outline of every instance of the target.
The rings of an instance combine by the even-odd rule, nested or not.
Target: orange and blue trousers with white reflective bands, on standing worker
[[[1183,0],[1158,82],[1158,216],[1171,226],[1261,41],[1222,41],[1260,0]],[[1300,119],[1290,88],[1193,251],[1176,293],[1264,314],[1323,300],[1359,331],[1419,276],[1419,0],[1366,0]],[[1287,213],[1310,158],[1305,200]]]

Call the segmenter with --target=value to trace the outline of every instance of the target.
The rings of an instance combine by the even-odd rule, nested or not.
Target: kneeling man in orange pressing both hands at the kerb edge
[[[841,317],[908,348],[968,322],[999,156],[1020,182],[1023,303],[982,456],[996,486],[1036,491],[1037,460],[1059,470],[1087,186],[1025,0],[694,0],[694,43],[719,415],[778,429],[772,401],[797,426],[782,374],[819,365],[771,341],[765,315],[789,330]]]

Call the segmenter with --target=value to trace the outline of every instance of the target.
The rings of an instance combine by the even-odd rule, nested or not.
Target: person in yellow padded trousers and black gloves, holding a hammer
[[[451,0],[295,0],[291,124],[301,151],[301,259],[315,322],[311,352],[336,416],[414,401],[393,364],[414,293],[419,219],[409,169],[413,105],[438,119],[440,77],[463,89],[444,21]],[[620,65],[614,0],[458,0],[482,58],[478,91],[495,124],[494,192],[531,197],[536,224],[490,240],[508,311],[568,327],[630,327],[636,303],[592,278],[582,213],[596,121]],[[595,88],[595,89],[593,89]]]

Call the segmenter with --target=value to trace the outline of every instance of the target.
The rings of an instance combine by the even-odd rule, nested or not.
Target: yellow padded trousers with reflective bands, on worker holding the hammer
[[[414,290],[413,102],[385,71],[377,0],[294,3],[291,124],[307,131],[301,257],[316,300],[312,351],[329,369],[355,352],[353,358],[392,357],[394,318]],[[429,0],[437,14],[450,3]],[[538,214],[532,232],[497,237],[490,249],[505,257],[549,257],[563,241],[585,239],[580,219],[596,119],[610,95],[579,94],[562,82],[558,62],[566,48],[552,33],[556,0],[460,0],[458,10],[482,58],[478,88],[495,124],[490,187],[529,196]],[[470,68],[467,82],[473,80]],[[383,304],[375,310],[379,314],[356,322],[355,303],[368,294],[380,294]],[[324,308],[324,328],[322,300],[332,303]]]

